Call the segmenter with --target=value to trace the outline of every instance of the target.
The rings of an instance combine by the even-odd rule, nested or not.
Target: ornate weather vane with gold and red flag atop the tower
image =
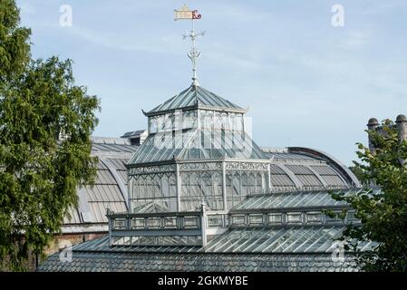
[[[197,60],[199,58],[200,52],[197,50],[195,46],[195,40],[198,36],[203,36],[205,32],[196,33],[195,32],[195,25],[194,20],[200,19],[202,16],[198,14],[198,10],[189,10],[188,5],[183,5],[179,10],[175,9],[175,21],[181,19],[190,19],[192,22],[192,29],[189,34],[183,34],[182,38],[190,38],[191,40],[191,47],[188,53],[188,57],[192,62],[192,84],[199,85],[198,77],[197,77]]]

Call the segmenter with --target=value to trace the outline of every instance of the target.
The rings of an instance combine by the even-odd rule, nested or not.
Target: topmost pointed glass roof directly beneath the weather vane
[[[245,110],[233,102],[229,102],[222,97],[219,97],[217,94],[213,92],[209,92],[208,90],[196,86],[191,85],[188,89],[179,92],[176,96],[172,97],[167,102],[161,103],[159,106],[155,107],[151,111],[148,111],[147,115],[153,115],[160,111],[171,111],[177,110],[182,108],[228,108],[233,109],[234,111],[242,111]]]

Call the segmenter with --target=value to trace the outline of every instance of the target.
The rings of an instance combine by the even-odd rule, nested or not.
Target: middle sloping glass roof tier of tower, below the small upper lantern
[[[264,152],[245,132],[188,130],[150,135],[128,165],[166,160],[266,160]]]

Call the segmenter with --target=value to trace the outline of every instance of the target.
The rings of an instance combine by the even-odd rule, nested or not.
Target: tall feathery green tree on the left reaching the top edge
[[[72,61],[32,60],[14,0],[0,2],[0,258],[24,270],[59,233],[76,189],[91,183],[99,101]]]

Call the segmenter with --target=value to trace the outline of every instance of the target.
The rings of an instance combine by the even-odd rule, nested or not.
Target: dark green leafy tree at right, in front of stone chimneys
[[[351,204],[361,220],[361,225],[347,227],[341,239],[365,271],[407,271],[407,141],[392,121],[383,121],[382,127],[381,132],[367,131],[375,152],[357,144],[360,161],[354,165],[371,189],[349,197],[334,195]],[[368,241],[377,246],[361,252],[357,246]]]

